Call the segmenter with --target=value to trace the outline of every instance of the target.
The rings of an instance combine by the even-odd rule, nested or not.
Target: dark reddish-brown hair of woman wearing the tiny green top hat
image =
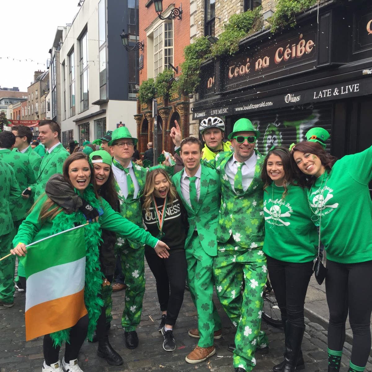
[[[328,172],[331,171],[333,164],[337,161],[337,158],[335,156],[327,153],[327,151],[325,151],[323,147],[321,147],[321,145],[317,142],[304,141],[296,144],[294,147],[292,147],[291,151],[291,165],[294,172],[294,177],[298,182],[298,185],[301,187],[310,187],[314,182],[315,176],[302,173],[293,156],[295,151],[300,151],[304,154],[310,153],[316,155]]]

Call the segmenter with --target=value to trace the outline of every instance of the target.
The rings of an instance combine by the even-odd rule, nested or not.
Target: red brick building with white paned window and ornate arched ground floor
[[[170,0],[163,1],[163,17],[170,15],[174,7],[181,3]],[[186,31],[190,22],[190,4],[182,3],[182,19],[161,20],[155,12],[151,0],[139,2],[139,41],[144,42],[144,50],[140,51],[140,84],[148,78],[155,78],[171,63],[179,68],[184,61],[183,49],[190,44],[190,36]],[[175,77],[179,73],[175,73]],[[173,142],[169,137],[174,120],[180,124],[183,135],[189,135],[189,99],[183,94],[171,97],[157,97],[158,106],[158,150],[173,151]],[[138,150],[141,154],[147,150],[147,142],[153,141],[152,103],[137,103],[137,137]]]

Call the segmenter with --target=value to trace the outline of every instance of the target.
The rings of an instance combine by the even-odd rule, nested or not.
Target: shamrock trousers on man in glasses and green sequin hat
[[[145,294],[145,246],[134,249],[129,246],[127,240],[125,243],[120,243],[125,238],[122,240],[119,238],[120,235],[116,234],[115,251],[120,255],[121,269],[125,284],[128,286],[125,290],[125,307],[121,325],[126,332],[130,332],[135,331],[141,321],[142,300]]]

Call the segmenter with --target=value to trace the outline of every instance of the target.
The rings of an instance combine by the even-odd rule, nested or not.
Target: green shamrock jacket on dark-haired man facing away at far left
[[[21,191],[25,190],[29,185],[35,183],[35,173],[30,164],[29,157],[26,154],[3,148],[0,150],[0,159],[5,161],[5,163],[9,164],[13,168],[18,186]],[[19,221],[20,219],[26,218],[26,214],[33,204],[32,198],[23,199],[20,196],[13,202],[13,221]]]

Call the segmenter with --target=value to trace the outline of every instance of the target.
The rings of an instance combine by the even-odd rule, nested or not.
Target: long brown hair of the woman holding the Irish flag
[[[65,182],[67,182],[68,184],[70,184],[70,186],[72,188],[74,188],[74,186],[71,183],[70,177],[68,176],[68,168],[70,167],[70,165],[73,161],[81,160],[81,159],[86,160],[88,165],[89,165],[89,168],[90,168],[90,183],[92,183],[93,189],[94,189],[94,194],[96,195],[96,198],[98,199],[99,196],[97,194],[97,186],[96,186],[96,179],[94,178],[94,170],[89,163],[88,156],[86,154],[84,154],[82,151],[80,151],[78,153],[71,154],[65,160],[65,162],[63,163],[63,168],[62,168],[62,176],[63,176]],[[36,205],[37,202],[38,201],[35,202],[35,204],[32,206],[32,208]],[[60,205],[58,205],[57,203],[52,201],[52,199],[47,198],[47,200],[45,200],[45,202],[43,203],[43,205],[41,207],[40,214],[39,214],[39,220],[41,222],[46,221],[48,218],[50,220],[52,220],[59,213],[61,213],[63,210],[64,209]]]

